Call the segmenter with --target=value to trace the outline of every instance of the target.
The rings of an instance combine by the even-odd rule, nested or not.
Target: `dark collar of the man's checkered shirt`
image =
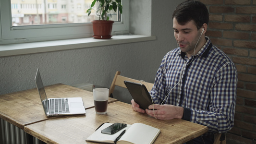
[[[209,37],[205,36],[206,39],[206,43],[205,45],[199,50],[199,52],[196,54],[197,56],[201,56],[203,58],[207,57],[208,52],[210,51],[211,47],[212,47],[212,43],[211,40],[209,39]],[[180,50],[181,51],[181,50]],[[184,59],[186,53],[185,52],[180,52],[181,57]]]

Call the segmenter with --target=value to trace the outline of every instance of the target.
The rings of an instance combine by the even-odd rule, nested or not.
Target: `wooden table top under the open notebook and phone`
[[[161,132],[154,144],[182,144],[208,131],[206,126],[186,120],[156,120],[133,111],[130,104],[120,101],[110,103],[104,115],[98,115],[94,108],[90,108],[83,116],[64,116],[37,122],[25,126],[24,131],[47,144],[95,144],[85,139],[104,122],[140,122],[156,127]]]

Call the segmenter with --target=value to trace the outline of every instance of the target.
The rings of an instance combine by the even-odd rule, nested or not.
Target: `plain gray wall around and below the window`
[[[36,88],[37,68],[44,85],[91,83],[109,88],[116,71],[153,83],[163,56],[176,47],[171,15],[181,1],[131,0],[131,33],[157,40],[0,57],[0,95]],[[130,103],[126,89],[116,88],[113,95]]]

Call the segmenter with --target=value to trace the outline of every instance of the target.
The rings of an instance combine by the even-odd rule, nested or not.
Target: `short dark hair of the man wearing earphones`
[[[172,19],[174,17],[180,25],[194,20],[197,30],[200,29],[203,24],[208,24],[209,22],[209,13],[206,5],[196,0],[186,0],[180,3],[172,14]]]

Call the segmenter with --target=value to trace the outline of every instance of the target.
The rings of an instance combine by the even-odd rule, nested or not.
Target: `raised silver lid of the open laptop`
[[[47,111],[48,111],[48,99],[47,99],[47,96],[46,96],[46,93],[45,93],[45,88],[44,88],[44,85],[43,85],[43,82],[42,82],[42,79],[41,79],[41,76],[40,76],[40,73],[39,73],[39,69],[37,69],[35,82],[36,82],[37,90],[38,90],[38,93],[39,93],[39,96],[41,98],[42,105],[43,105],[43,108],[44,108],[45,114],[46,114]]]

